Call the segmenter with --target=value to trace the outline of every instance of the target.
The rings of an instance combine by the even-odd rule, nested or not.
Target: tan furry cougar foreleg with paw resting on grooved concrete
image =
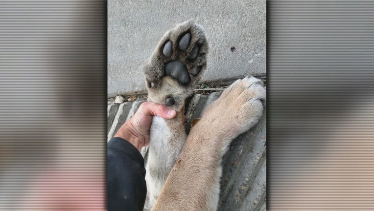
[[[266,91],[251,77],[238,80],[204,112],[192,128],[152,211],[213,211],[221,159],[230,142],[253,127],[262,114]]]

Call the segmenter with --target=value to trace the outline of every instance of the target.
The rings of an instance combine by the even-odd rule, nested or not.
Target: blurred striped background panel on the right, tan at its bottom
[[[374,209],[374,2],[268,1],[268,209]]]

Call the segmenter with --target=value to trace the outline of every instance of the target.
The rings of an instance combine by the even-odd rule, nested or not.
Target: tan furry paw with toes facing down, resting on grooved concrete
[[[254,77],[237,80],[205,110],[202,124],[219,139],[231,140],[253,127],[262,115],[266,89]]]

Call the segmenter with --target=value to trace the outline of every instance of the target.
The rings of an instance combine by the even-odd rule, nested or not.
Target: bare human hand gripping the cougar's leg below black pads
[[[177,112],[166,105],[144,102],[134,116],[118,129],[114,137],[127,140],[140,151],[142,147],[149,145],[149,131],[151,130],[153,116],[172,119],[176,115]]]

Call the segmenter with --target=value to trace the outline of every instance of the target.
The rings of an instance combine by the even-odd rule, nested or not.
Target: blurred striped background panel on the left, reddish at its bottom
[[[0,2],[0,210],[106,210],[106,2]]]

